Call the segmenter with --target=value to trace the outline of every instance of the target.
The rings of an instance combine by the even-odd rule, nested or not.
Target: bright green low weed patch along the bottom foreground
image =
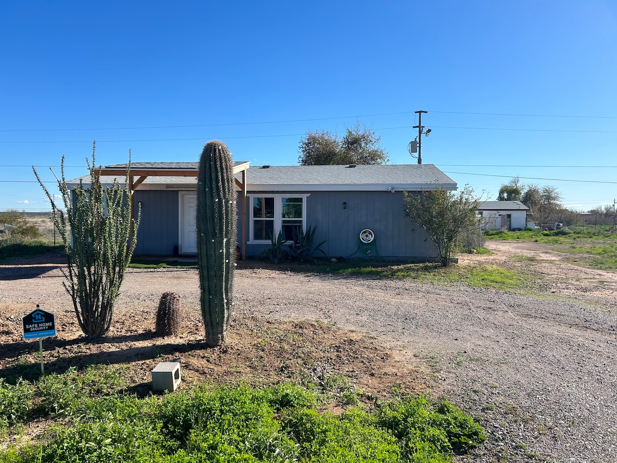
[[[102,379],[95,380],[95,371]],[[486,439],[478,423],[444,399],[398,394],[335,415],[320,411],[327,404],[319,391],[291,383],[202,385],[138,398],[110,393],[120,384],[109,372],[99,367],[35,384],[0,383],[0,391],[29,398],[17,420],[49,423],[36,440],[0,450],[0,461],[445,463]],[[51,395],[60,385],[75,387],[67,388],[63,406],[46,405],[56,401]]]

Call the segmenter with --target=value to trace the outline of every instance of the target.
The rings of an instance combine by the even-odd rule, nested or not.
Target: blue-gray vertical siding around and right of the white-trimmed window
[[[347,202],[346,209],[343,202]],[[351,256],[358,250],[360,231],[364,228],[375,233],[377,250],[383,259],[422,261],[435,257],[433,243],[424,241],[426,232],[405,217],[403,205],[402,191],[313,191],[307,198],[307,225],[317,225],[315,239],[317,243],[327,240],[322,249],[329,257]],[[250,220],[248,206],[247,203]],[[248,223],[244,226],[249,236]],[[258,256],[266,247],[247,244],[247,256]],[[362,252],[352,256],[364,258]]]

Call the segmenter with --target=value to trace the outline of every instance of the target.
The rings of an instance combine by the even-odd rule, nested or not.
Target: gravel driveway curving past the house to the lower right
[[[59,270],[30,273],[0,267],[2,304],[70,307]],[[130,270],[119,305],[155,307],[175,290],[198,307],[198,288],[196,270]],[[235,294],[238,312],[334,322],[418,357],[434,391],[490,435],[468,459],[617,462],[614,303],[252,268],[236,273]]]

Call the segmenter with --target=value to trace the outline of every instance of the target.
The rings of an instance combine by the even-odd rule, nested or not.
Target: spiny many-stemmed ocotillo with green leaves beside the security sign
[[[132,217],[129,170],[126,169],[124,188],[120,188],[115,179],[113,186],[104,188],[94,173],[95,148],[96,145],[92,150],[92,165],[86,158],[90,185],[75,188],[74,198],[65,180],[62,156],[58,186],[66,212],[57,206],[54,196],[32,167],[36,180],[51,202],[52,220],[67,252],[67,268],[63,269],[64,289],[73,300],[77,322],[88,339],[104,336],[111,327],[114,304],[120,296],[126,266],[135,250],[141,216],[139,211],[136,220]]]

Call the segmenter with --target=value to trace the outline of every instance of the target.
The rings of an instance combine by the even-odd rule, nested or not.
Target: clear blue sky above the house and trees
[[[484,198],[513,176],[574,209],[617,197],[612,0],[213,3],[2,2],[0,209],[49,209],[23,166],[83,175],[94,139],[103,165],[214,138],[292,165],[308,130],[359,120],[412,164],[419,109],[424,164]]]

